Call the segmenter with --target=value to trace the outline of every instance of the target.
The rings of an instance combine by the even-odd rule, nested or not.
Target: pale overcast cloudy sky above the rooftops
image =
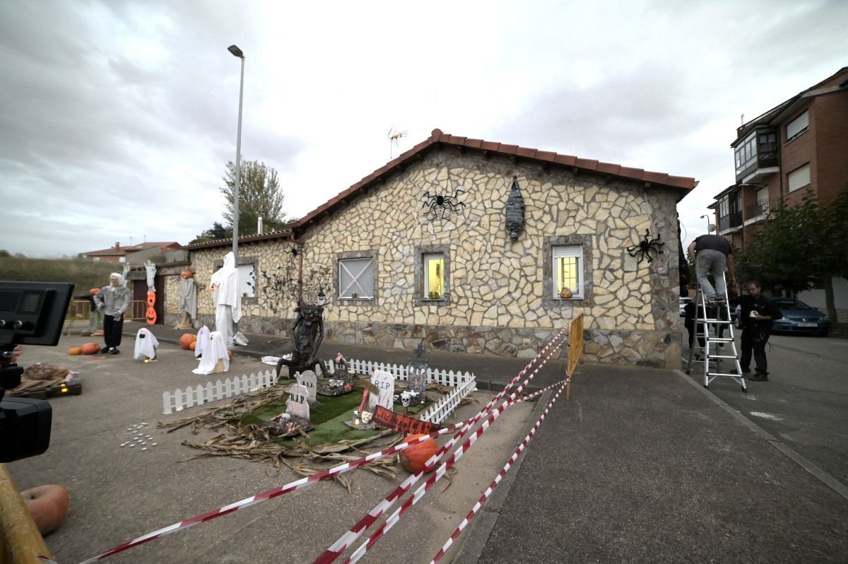
[[[235,158],[297,218],[432,129],[734,181],[735,128],[848,65],[848,2],[0,2],[0,248],[187,243]],[[388,131],[408,131],[390,148]]]

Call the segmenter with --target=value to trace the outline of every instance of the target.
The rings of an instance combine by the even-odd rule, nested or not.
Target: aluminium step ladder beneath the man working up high
[[[724,274],[722,273],[722,278]],[[725,279],[724,288],[727,288]],[[686,362],[686,373],[692,370],[692,356],[695,349],[700,349],[702,359],[695,358],[695,362],[704,363],[704,388],[709,389],[710,383],[718,377],[733,378],[743,392],[747,392],[745,377],[742,375],[742,367],[739,365],[739,355],[736,352],[736,339],[734,335],[734,324],[730,321],[730,302],[725,299],[723,303],[707,304],[703,291],[698,288],[695,293],[695,338],[689,347],[689,360]],[[728,332],[729,337],[723,335]],[[703,344],[701,344],[703,343]],[[725,352],[732,354],[724,354]],[[723,371],[722,364],[735,366],[736,373]],[[733,368],[731,368],[733,370]]]

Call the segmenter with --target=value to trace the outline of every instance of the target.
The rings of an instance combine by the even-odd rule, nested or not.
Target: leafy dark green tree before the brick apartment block
[[[781,205],[769,215],[753,242],[739,254],[743,280],[796,293],[824,288],[828,316],[836,320],[833,278],[848,274],[848,189],[819,205],[812,191],[800,204]]]

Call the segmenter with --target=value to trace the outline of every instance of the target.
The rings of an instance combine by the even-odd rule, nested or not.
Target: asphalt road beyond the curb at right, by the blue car
[[[740,331],[734,331],[739,351]],[[746,381],[743,394],[719,378],[710,391],[848,485],[848,340],[772,335],[769,345],[768,382]],[[700,382],[702,370],[694,364],[691,377]]]

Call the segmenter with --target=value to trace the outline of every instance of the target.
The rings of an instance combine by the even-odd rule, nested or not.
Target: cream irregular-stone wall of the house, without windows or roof
[[[513,175],[526,204],[516,242],[505,229]],[[427,217],[426,193],[455,197],[457,211]],[[443,148],[299,235],[304,298],[314,299],[318,288],[326,293],[326,342],[414,349],[423,339],[430,349],[531,357],[583,314],[584,360],[678,367],[677,199],[662,187]],[[627,248],[646,230],[666,244],[652,262],[639,262]],[[551,290],[551,245],[564,242],[583,248],[580,299]],[[287,334],[297,280],[293,246],[240,246],[240,262],[254,260],[259,291],[243,304],[243,330]],[[432,248],[449,259],[446,299],[421,299],[421,252]],[[228,250],[193,253],[201,288]],[[373,299],[338,299],[338,259],[351,256],[376,260]],[[211,319],[209,294],[200,294],[198,314]]]

